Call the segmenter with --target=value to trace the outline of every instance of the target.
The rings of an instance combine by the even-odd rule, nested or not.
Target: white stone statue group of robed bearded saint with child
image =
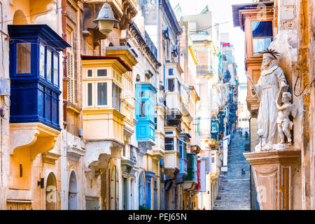
[[[255,146],[255,151],[289,149],[292,142],[290,129],[292,130],[293,127],[289,115],[292,114],[293,118],[296,116],[297,106],[290,104],[292,95],[287,92],[286,76],[276,62],[279,52],[267,48],[260,53],[263,57],[258,84],[253,85],[253,80],[248,76],[252,83],[251,94],[260,102],[258,130],[264,132],[260,140],[262,142]],[[283,104],[281,104],[281,99]],[[288,144],[285,144],[284,136],[287,137]]]

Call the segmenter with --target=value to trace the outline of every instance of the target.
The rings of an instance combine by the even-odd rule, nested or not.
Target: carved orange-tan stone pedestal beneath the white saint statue
[[[293,209],[293,182],[301,151],[244,153],[252,166],[260,210]]]

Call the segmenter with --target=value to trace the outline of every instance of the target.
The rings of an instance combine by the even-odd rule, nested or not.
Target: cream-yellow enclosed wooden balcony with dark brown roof
[[[81,56],[83,64],[83,138],[123,145],[123,76],[132,71],[120,57]]]

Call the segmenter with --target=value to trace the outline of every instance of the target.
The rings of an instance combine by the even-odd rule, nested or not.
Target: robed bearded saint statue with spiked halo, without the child
[[[248,76],[252,84],[251,94],[253,97],[258,97],[260,101],[257,118],[258,130],[265,132],[264,137],[261,138],[262,142],[255,148],[256,151],[260,151],[260,146],[262,146],[262,150],[270,150],[272,145],[279,143],[276,101],[279,99],[279,95],[288,90],[286,76],[276,62],[279,53],[268,48],[260,53],[263,54],[263,57],[258,84],[253,85],[253,80]]]

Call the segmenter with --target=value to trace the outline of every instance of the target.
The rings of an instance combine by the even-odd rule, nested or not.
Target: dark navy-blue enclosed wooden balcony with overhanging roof
[[[8,25],[10,123],[59,126],[59,52],[71,47],[48,25]]]

